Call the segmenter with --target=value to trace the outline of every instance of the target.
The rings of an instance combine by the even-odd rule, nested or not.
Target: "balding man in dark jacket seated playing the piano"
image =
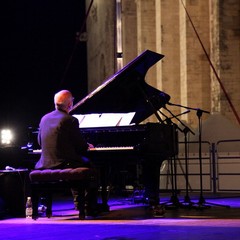
[[[92,167],[89,159],[83,157],[88,148],[93,147],[81,135],[78,119],[69,111],[73,106],[71,92],[62,90],[54,96],[55,110],[44,115],[40,121],[38,143],[42,154],[35,169],[64,169]],[[71,191],[75,208],[78,209],[79,188],[74,183]],[[97,176],[87,184],[87,215],[97,213]]]

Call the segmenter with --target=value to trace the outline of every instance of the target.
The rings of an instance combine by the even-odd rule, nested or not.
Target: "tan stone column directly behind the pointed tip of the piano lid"
[[[156,46],[165,57],[157,65],[157,88],[171,96],[172,103],[180,103],[180,37],[179,2],[156,0]],[[182,109],[169,107],[174,114]]]

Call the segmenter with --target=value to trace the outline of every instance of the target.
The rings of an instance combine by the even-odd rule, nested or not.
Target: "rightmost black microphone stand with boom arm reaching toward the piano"
[[[203,113],[210,114],[208,111],[204,111],[199,108],[190,108],[178,104],[173,104],[173,103],[168,103],[171,106],[178,106],[178,107],[183,107],[186,109],[191,109],[196,111],[196,115],[198,117],[198,154],[199,154],[199,175],[200,175],[200,196],[199,196],[199,201],[198,201],[198,209],[203,209],[203,208],[209,208],[210,205],[215,205],[215,206],[221,206],[221,207],[229,207],[227,205],[220,205],[220,204],[215,204],[215,203],[209,203],[205,201],[205,198],[203,197],[203,184],[202,184],[202,127],[201,127],[201,117]]]

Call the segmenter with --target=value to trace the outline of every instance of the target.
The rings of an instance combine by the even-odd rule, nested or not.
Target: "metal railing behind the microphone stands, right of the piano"
[[[178,190],[184,191],[188,187],[189,191],[200,191],[200,181],[202,181],[203,191],[213,193],[240,191],[240,139],[221,140],[217,143],[202,141],[201,176],[199,143],[187,142],[187,158],[185,157],[184,144],[184,142],[179,142],[180,151],[174,161],[176,164],[176,172],[173,174],[175,174],[177,179]],[[226,149],[229,151],[226,151]],[[166,166],[164,166],[164,164]],[[188,169],[186,169],[186,167]],[[186,181],[186,172],[188,172],[188,181]],[[171,188],[170,175],[169,161],[165,161],[160,173],[160,188]],[[186,183],[188,183],[188,186]]]

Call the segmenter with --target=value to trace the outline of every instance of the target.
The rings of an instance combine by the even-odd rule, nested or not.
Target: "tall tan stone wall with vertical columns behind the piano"
[[[87,7],[89,3],[87,0]],[[172,103],[219,112],[238,124],[232,106],[239,114],[240,2],[121,0],[121,3],[123,65],[145,49],[165,55],[149,69],[146,82],[168,93]],[[114,0],[94,1],[87,19],[89,91],[116,72],[115,18]],[[174,114],[185,110],[168,108]],[[203,120],[208,117],[203,114]],[[194,110],[182,115],[182,120],[193,127],[198,125]],[[149,121],[156,119],[152,117]]]

